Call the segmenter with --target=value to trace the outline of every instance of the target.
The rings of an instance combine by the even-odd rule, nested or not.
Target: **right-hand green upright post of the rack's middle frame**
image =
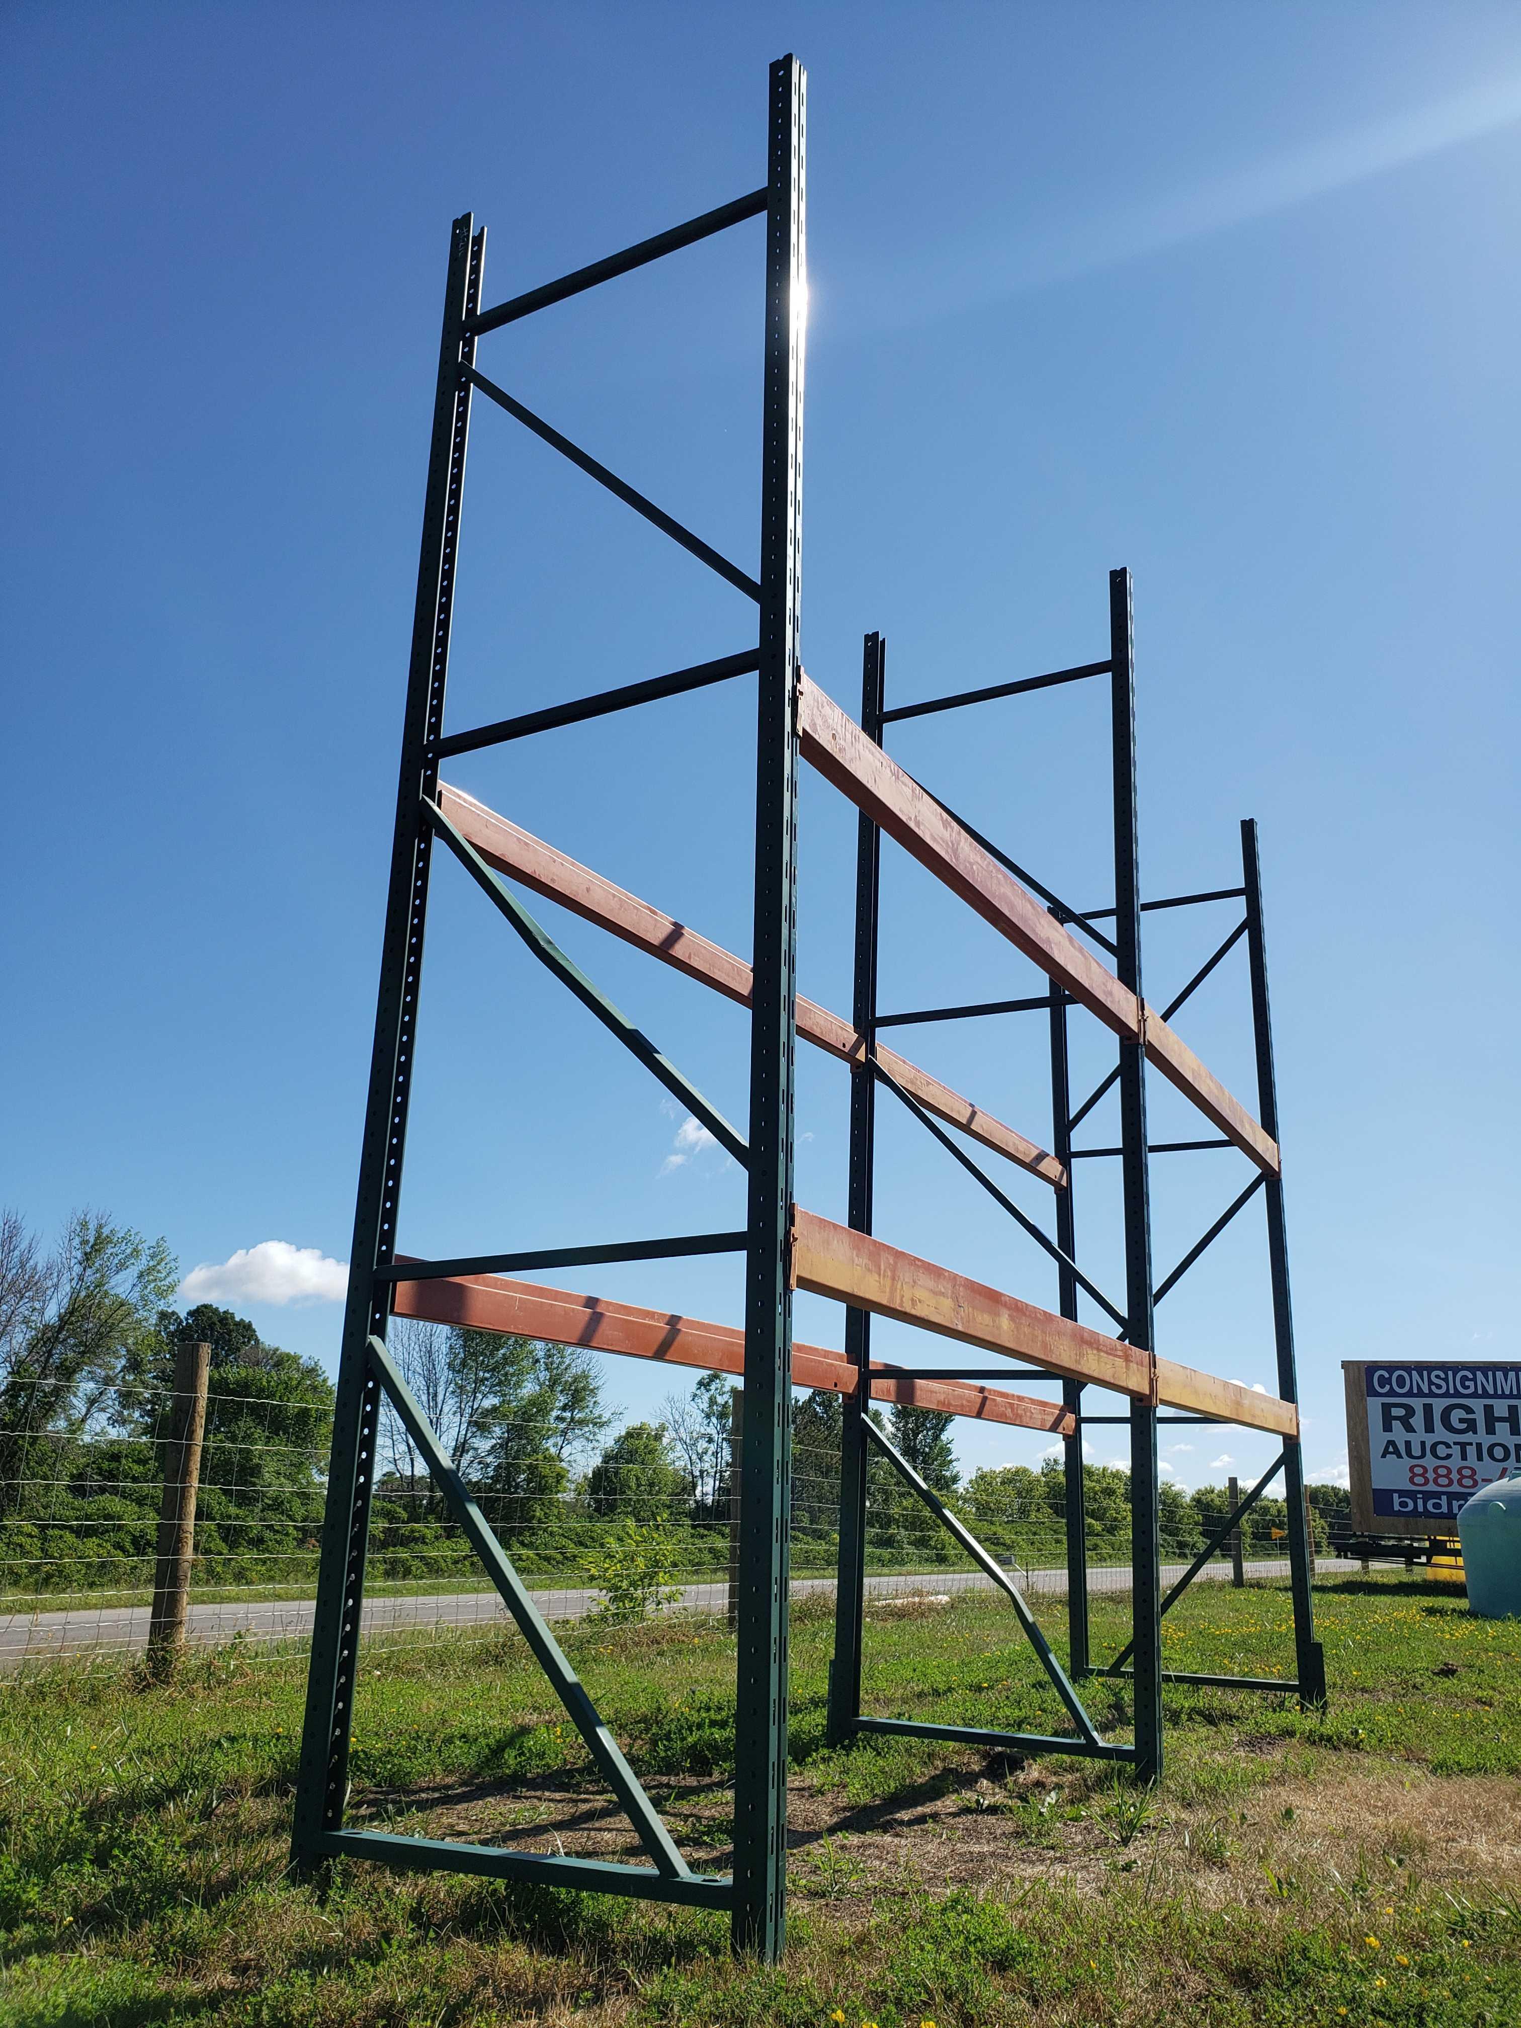
[[[1142,998],[1140,854],[1136,827],[1136,669],[1128,570],[1109,572],[1113,730],[1115,971]],[[1144,1002],[1142,1002],[1144,1006]],[[1152,1190],[1146,1142],[1146,1044],[1119,1044],[1119,1146],[1126,1205],[1126,1336],[1156,1351],[1152,1328]],[[1156,1387],[1130,1405],[1130,1580],[1136,1659],[1136,1779],[1162,1774],[1162,1541],[1158,1527]]]

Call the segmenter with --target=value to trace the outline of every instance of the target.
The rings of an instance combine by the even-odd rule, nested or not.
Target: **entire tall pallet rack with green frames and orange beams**
[[[1134,850],[1134,696],[1130,681],[1130,584],[1115,574],[1111,596],[1111,655],[1105,663],[1055,671],[1022,683],[1000,683],[957,698],[931,700],[898,712],[882,708],[884,651],[878,637],[866,645],[862,724],[856,726],[815,683],[799,659],[801,584],[801,426],[805,345],[805,81],[801,65],[783,57],[771,67],[767,183],[687,225],[614,254],[608,260],[483,310],[485,231],[473,219],[454,221],[434,402],[432,450],[424,505],[422,560],[412,637],[395,842],[387,892],[381,982],[375,1016],[365,1138],[361,1150],[349,1302],[343,1324],[339,1393],[329,1472],[327,1519],[318,1576],[316,1620],[308,1677],[302,1758],[296,1787],[294,1862],[312,1872],[337,1858],[377,1860],[393,1868],[434,1868],[537,1880],[598,1892],[635,1894],[730,1912],[734,1945],[775,1959],[785,1943],[787,1856],[787,1600],[789,1600],[789,1497],[791,1497],[791,1391],[829,1389],[846,1403],[846,1452],[840,1511],[840,1643],[831,1673],[831,1724],[846,1736],[860,1730],[909,1730],[927,1736],[1000,1740],[996,1734],[955,1728],[917,1728],[870,1720],[860,1712],[860,1602],[866,1529],[866,1446],[947,1527],[967,1555],[1000,1586],[1036,1649],[1067,1716],[1071,1738],[1030,1738],[1040,1750],[1087,1752],[1134,1760],[1142,1774],[1160,1768],[1160,1614],[1172,1602],[1158,1598],[1156,1555],[1156,1407],[1158,1401],[1209,1420],[1239,1420],[1284,1436],[1290,1487],[1298,1484],[1298,1418],[1294,1411],[1294,1347],[1288,1320],[1288,1268],[1278,1188],[1272,1042],[1255,874],[1255,834],[1247,860],[1247,927],[1257,1026],[1259,1111],[1253,1119],[1219,1085],[1166,1026],[1182,1000],[1162,1016],[1140,998],[1140,904]],[[643,493],[610,473],[590,452],[523,408],[477,367],[483,337],[523,316],[564,302],[690,247],[746,219],[765,217],[765,381],[760,456],[758,574],[712,550]],[[586,477],[612,491],[635,513],[708,564],[758,608],[754,647],[675,669],[667,675],[623,683],[590,698],[548,710],[523,712],[464,732],[444,732],[454,564],[460,529],[464,458],[473,397],[481,393],[507,416],[562,452]],[[986,702],[1022,690],[1079,681],[1109,673],[1115,724],[1115,935],[1097,929],[1097,915],[1069,911],[1032,876],[982,840],[953,811],[907,777],[882,754],[882,728],[894,718]],[[710,683],[756,677],[756,834],[752,953],[742,959],[677,923],[651,902],[578,866],[544,840],[473,797],[440,781],[440,765],[509,740],[580,724],[610,712],[653,704]],[[860,809],[856,992],[852,1018],[797,994],[797,767],[807,758]],[[1053,1091],[1057,1132],[1053,1148],[1026,1138],[986,1107],[931,1077],[878,1042],[892,1016],[876,1010],[876,939],[880,834],[888,831],[921,858],[955,894],[973,907],[1016,949],[1048,973],[1044,996],[986,1008],[923,1010],[896,1020],[941,1020],[1016,1008],[1051,1010]],[[406,1154],[408,1099],[412,1089],[424,927],[434,842],[481,888],[507,927],[582,1008],[619,1040],[659,1083],[700,1119],[744,1166],[748,1180],[746,1223],[740,1231],[687,1233],[655,1239],[621,1239],[604,1245],[566,1245],[501,1251],[450,1259],[414,1259],[397,1251],[397,1211]],[[509,886],[513,882],[513,886]],[[750,1095],[744,1132],[724,1119],[683,1077],[675,1063],[570,959],[533,919],[515,888],[548,894],[582,919],[673,965],[687,977],[750,1010]],[[1038,900],[1036,900],[1038,896]],[[1044,902],[1044,909],[1040,907]],[[1115,969],[1095,961],[1071,927],[1115,959]],[[1223,955],[1223,953],[1221,953]],[[1213,963],[1213,961],[1211,961]],[[1209,969],[1209,967],[1207,967]],[[1201,973],[1199,977],[1203,977]],[[1194,986],[1199,980],[1192,982]],[[1071,1162],[1099,1150],[1071,1146],[1071,1132],[1087,1105],[1071,1111],[1065,1087],[1067,1004],[1085,1006],[1119,1040],[1121,1150],[1126,1164],[1128,1288],[1124,1306],[1079,1268],[1071,1217]],[[803,1036],[852,1071],[850,1087],[850,1223],[834,1225],[793,1201],[793,1053]],[[1209,1243],[1239,1203],[1205,1235],[1174,1276],[1152,1288],[1150,1227],[1146,1205],[1148,1148],[1144,1128],[1144,1061],[1182,1089],[1223,1134],[1255,1164],[1255,1188],[1265,1190],[1278,1316],[1280,1397],[1255,1395],[1231,1381],[1160,1361],[1152,1351],[1150,1312],[1166,1288]],[[1000,1290],[984,1288],[933,1261],[884,1247],[872,1227],[872,1121],[876,1089],[888,1089],[996,1201],[1057,1261],[1061,1310],[1046,1312]],[[1095,1101],[1091,1101],[1095,1103]],[[959,1130],[980,1150],[994,1152],[1040,1178],[1057,1197],[1057,1235],[1022,1213],[994,1178],[945,1134]],[[1184,1144],[1197,1146],[1197,1144]],[[1156,1152],[1156,1150],[1150,1150]],[[744,1328],[704,1322],[671,1312],[641,1310],[596,1296],[578,1296],[515,1280],[525,1270],[564,1270],[610,1261],[679,1259],[698,1253],[744,1255]],[[805,1288],[846,1304],[846,1351],[793,1347],[791,1298]],[[1087,1292],[1119,1324],[1105,1336],[1077,1322],[1077,1294]],[[894,1316],[931,1332],[957,1338],[1004,1359],[1008,1369],[919,1371],[870,1357],[872,1314]],[[477,1507],[446,1446],[410,1393],[387,1353],[391,1316],[468,1324],[588,1345],[623,1357],[661,1359],[704,1367],[742,1379],[742,1474],[736,1558],[738,1667],[736,1667],[736,1783],[734,1870],[728,1878],[694,1872],[645,1795],[617,1740],[596,1714],[566,1655],[544,1622],[533,1598]],[[1004,1375],[1059,1379],[1061,1403],[984,1385]],[[1083,1710],[1077,1683],[1093,1673],[1087,1620],[1075,1606],[1071,1667],[1063,1669],[1034,1614],[1008,1574],[982,1549],[919,1478],[866,1409],[872,1401],[945,1409],[1002,1422],[1012,1428],[1061,1436],[1077,1468],[1077,1537],[1069,1547],[1081,1574],[1081,1424],[1083,1387],[1117,1389],[1132,1403],[1132,1468],[1136,1497],[1134,1586],[1136,1641],[1109,1665],[1124,1667],[1134,1653],[1136,1742],[1099,1738]],[[473,1545],[503,1604],[523,1633],[546,1679],[560,1695],[592,1764],[623,1805],[649,1864],[550,1858],[497,1845],[400,1837],[345,1827],[349,1744],[357,1645],[365,1588],[369,1509],[375,1491],[377,1430],[383,1403],[400,1418],[424,1460],[454,1523]],[[1253,1489],[1249,1501],[1259,1497]],[[1294,1513],[1294,1507],[1292,1507]],[[1300,1541],[1296,1570],[1296,1624],[1302,1626],[1298,1689],[1314,1695],[1318,1651],[1308,1631],[1308,1560]],[[1192,1572],[1190,1572],[1192,1576]],[[1186,1580],[1184,1580],[1186,1582]],[[1300,1604],[1304,1612],[1300,1612]],[[1296,1687],[1296,1685],[1280,1685]]]

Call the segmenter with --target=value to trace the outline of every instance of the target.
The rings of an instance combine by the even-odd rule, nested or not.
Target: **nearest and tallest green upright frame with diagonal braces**
[[[375,1044],[359,1162],[349,1302],[343,1322],[292,1829],[292,1860],[298,1874],[304,1876],[312,1876],[339,1858],[367,1858],[404,1870],[537,1880],[700,1908],[724,1908],[732,1918],[736,1949],[767,1959],[779,1957],[783,1949],[787,1880],[787,1513],[791,1501],[791,1263],[787,1247],[793,1192],[797,633],[807,329],[803,105],[803,67],[795,57],[783,57],[771,67],[767,183],[763,189],[491,310],[481,308],[485,229],[477,231],[468,213],[452,227]],[[525,410],[503,387],[477,371],[475,363],[477,343],[487,333],[752,217],[767,221],[758,578],[730,564],[653,501]],[[533,430],[635,513],[641,513],[754,600],[758,606],[758,647],[649,683],[625,685],[600,698],[576,700],[550,712],[444,736],[464,456],[470,404],[477,393]],[[511,890],[448,823],[438,805],[438,763],[450,752],[475,750],[529,730],[544,730],[550,724],[570,724],[600,712],[625,710],[750,671],[758,675],[758,716],[754,994],[750,1132],[746,1142],[554,945]],[[539,963],[748,1168],[750,1205],[744,1231],[698,1233],[671,1241],[635,1241],[602,1249],[572,1247],[535,1257],[495,1255],[475,1261],[397,1263],[397,1207],[434,838],[442,840]],[[539,1265],[566,1265],[570,1259],[649,1259],[712,1251],[742,1251],[746,1255],[744,1454],[748,1470],[744,1472],[740,1519],[738,1783],[732,1878],[696,1874],[681,1858],[511,1560],[470,1499],[438,1434],[430,1428],[426,1414],[385,1351],[391,1292],[395,1282],[404,1278],[479,1274],[507,1261],[527,1265],[529,1259],[537,1259]],[[594,1766],[629,1815],[649,1866],[548,1858],[509,1848],[397,1837],[345,1827],[369,1503],[383,1399],[389,1399],[406,1424],[446,1507],[481,1558],[546,1679],[576,1724]]]

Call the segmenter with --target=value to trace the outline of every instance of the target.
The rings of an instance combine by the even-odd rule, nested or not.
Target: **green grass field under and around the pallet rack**
[[[1124,1602],[1095,1600],[1095,1647]],[[1042,1608],[1053,1635],[1061,1608]],[[1190,1594],[1168,1663],[1282,1673],[1288,1598]],[[791,1951],[734,1965],[712,1916],[345,1866],[286,1878],[298,1659],[203,1657],[0,1691],[0,2022],[1284,2028],[1521,2018],[1521,1624],[1407,1578],[1320,1596],[1332,1704],[1168,1693],[1168,1777],[823,1738],[829,1618],[793,1622]],[[722,1864],[732,1637],[669,1618],[568,1645],[694,1864]],[[1008,1610],[868,1624],[868,1708],[1057,1726]],[[1121,1685],[1089,1685],[1126,1732]],[[369,1657],[353,1815],[499,1789],[523,1839],[586,1787],[515,1637]],[[550,1801],[546,1801],[550,1799]],[[475,1805],[470,1805],[475,1807]],[[539,1839],[541,1841],[541,1839]]]

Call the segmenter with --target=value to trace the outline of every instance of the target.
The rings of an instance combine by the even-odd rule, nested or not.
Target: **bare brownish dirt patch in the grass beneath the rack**
[[[1359,1894],[1440,1892],[1484,1880],[1521,1890],[1521,1783],[1432,1777],[1334,1754],[1290,1752],[1243,1799],[1180,1805],[1121,1774],[1083,1764],[965,1752],[909,1768],[884,1795],[795,1774],[789,1785],[791,1880],[809,1902],[842,1910],[925,1890],[1018,1892],[1034,1882],[1105,1894],[1115,1876],[1154,1892],[1188,1888],[1205,1906],[1294,1898],[1298,1882],[1345,1880]],[[698,1872],[732,1866],[734,1795],[726,1781],[649,1785]],[[414,1835],[515,1845],[598,1860],[643,1860],[621,1807],[594,1783],[546,1774],[503,1791],[446,1783],[359,1795],[351,1821]]]

